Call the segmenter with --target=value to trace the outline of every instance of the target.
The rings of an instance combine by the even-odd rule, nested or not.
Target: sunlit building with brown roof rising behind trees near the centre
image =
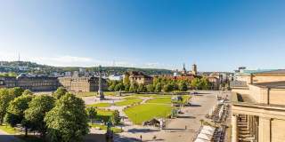
[[[144,75],[142,72],[131,71],[127,74],[126,76],[129,76],[130,83],[150,84],[153,80],[151,76]]]

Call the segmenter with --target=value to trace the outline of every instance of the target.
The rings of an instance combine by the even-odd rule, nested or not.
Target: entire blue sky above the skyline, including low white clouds
[[[285,68],[285,1],[0,0],[0,60]]]

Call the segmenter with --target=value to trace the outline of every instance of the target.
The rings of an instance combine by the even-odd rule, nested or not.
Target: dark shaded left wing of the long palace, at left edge
[[[30,75],[0,77],[0,88],[20,87],[30,91],[55,91],[59,85],[56,77]]]

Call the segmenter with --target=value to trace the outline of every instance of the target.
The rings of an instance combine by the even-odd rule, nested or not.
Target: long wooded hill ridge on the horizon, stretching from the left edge
[[[54,72],[73,72],[79,68],[84,68],[85,71],[96,72],[98,67],[53,67],[40,65],[29,61],[0,61],[0,72],[31,73],[36,75],[51,75]],[[123,75],[126,71],[142,71],[146,75],[170,75],[171,70],[158,68],[137,68],[137,67],[102,67],[102,70],[109,75]]]

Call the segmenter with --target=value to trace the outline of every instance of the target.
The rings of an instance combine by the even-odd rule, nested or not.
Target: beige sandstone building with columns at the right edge
[[[285,70],[243,71],[232,88],[232,142],[285,141]]]

